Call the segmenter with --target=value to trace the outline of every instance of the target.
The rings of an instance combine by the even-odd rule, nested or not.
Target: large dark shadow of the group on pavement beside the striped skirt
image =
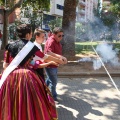
[[[81,99],[71,98],[66,94],[60,97],[63,97],[64,101],[60,100],[57,104],[59,120],[90,120],[85,118],[90,113],[96,116],[103,115],[102,112],[93,109],[88,102]]]

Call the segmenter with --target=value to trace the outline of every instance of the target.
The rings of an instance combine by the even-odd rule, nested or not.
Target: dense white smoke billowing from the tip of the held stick
[[[119,58],[117,57],[118,50],[113,49],[113,44],[103,42],[96,47],[96,52],[101,58],[103,63],[110,64],[113,67],[120,67]],[[94,70],[100,69],[102,63],[97,57],[84,57],[78,60],[78,62],[93,62]]]

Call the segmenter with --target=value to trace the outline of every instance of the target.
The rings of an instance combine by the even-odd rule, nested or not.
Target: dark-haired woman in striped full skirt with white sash
[[[17,27],[20,40],[6,47],[4,72],[0,80],[0,120],[57,120],[54,100],[44,80],[34,69],[41,62],[62,64],[63,61],[40,52],[29,40],[31,26],[22,24]],[[31,67],[32,66],[32,67]]]

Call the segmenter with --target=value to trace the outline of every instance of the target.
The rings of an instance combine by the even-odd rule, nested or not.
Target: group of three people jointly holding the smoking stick
[[[44,50],[41,46],[44,30],[36,28],[32,33],[30,25],[21,24],[16,32],[20,39],[5,48],[0,120],[57,120],[57,68],[67,63],[60,44],[63,30],[59,27],[53,30]],[[34,42],[30,41],[32,36]]]

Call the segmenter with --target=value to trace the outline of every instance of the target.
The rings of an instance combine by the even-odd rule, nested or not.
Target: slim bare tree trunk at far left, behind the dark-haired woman
[[[8,13],[4,11],[3,15],[3,39],[2,39],[2,47],[3,50],[5,46],[8,44]]]

